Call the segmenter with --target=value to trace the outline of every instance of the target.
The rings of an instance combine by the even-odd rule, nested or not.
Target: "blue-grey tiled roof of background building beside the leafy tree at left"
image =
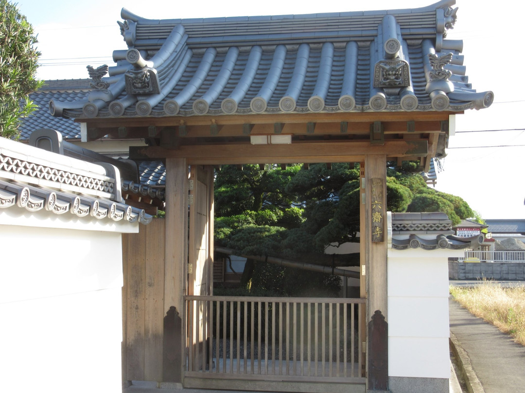
[[[23,119],[20,139],[28,140],[31,132],[40,128],[57,130],[64,139],[80,139],[80,124],[73,119],[54,117],[49,113],[51,99],[73,102],[86,97],[91,90],[89,79],[49,80],[40,90],[29,95],[38,109]]]

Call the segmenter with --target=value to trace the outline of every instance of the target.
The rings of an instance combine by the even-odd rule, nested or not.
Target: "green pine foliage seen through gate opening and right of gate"
[[[454,224],[474,215],[458,196],[429,188],[417,163],[387,164],[387,210],[444,212]],[[329,244],[359,241],[358,164],[224,167],[215,182],[215,242],[244,255],[291,260]],[[334,294],[339,277],[248,260],[243,283],[280,295]],[[310,292],[313,293],[313,292]]]

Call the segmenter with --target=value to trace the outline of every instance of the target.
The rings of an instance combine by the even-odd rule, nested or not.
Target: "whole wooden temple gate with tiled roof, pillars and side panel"
[[[352,318],[350,302],[365,309],[364,317],[354,315],[361,342],[350,348],[366,354],[358,356],[364,369],[358,359],[355,373],[350,355],[349,372],[348,364],[338,365],[335,378],[345,378],[345,370],[346,377],[358,378],[355,384],[345,381],[345,391],[388,389],[386,162],[401,166],[417,160],[428,172],[431,160],[445,155],[454,115],[486,108],[493,100],[492,92],[476,92],[467,83],[459,55],[463,44],[445,39],[456,21],[454,3],[443,0],[415,12],[213,20],[151,20],[122,10],[120,32],[129,49],[113,53],[118,66],[110,67],[111,79],[101,83],[97,75],[86,97],[51,100],[49,108],[54,116],[83,123],[82,141],[142,139],[146,145],[130,148],[130,159],[165,164],[165,219],[123,241],[124,381],[204,386],[206,379],[238,377],[240,372],[218,371],[248,370],[248,354],[243,348],[244,365],[238,361],[240,352],[234,358],[230,350],[225,358],[216,348],[214,355],[213,328],[215,339],[223,334],[226,341],[229,332],[248,343],[245,334],[253,338],[252,328],[263,329],[251,319],[257,309],[265,318],[271,313],[272,334],[297,334],[298,342],[306,343],[308,337],[315,340],[308,329],[317,326],[312,322],[316,307],[321,315],[331,310],[334,326],[342,326],[348,325],[344,318]],[[212,297],[212,167],[336,162],[361,167],[361,299],[334,305],[324,299]],[[228,307],[229,313],[236,308],[236,314],[228,314]],[[220,326],[228,320],[229,328]],[[284,328],[287,324],[299,326],[292,332]],[[337,332],[332,336],[336,341]],[[266,372],[274,360],[275,373],[268,371],[264,379],[281,385],[269,389],[285,390],[284,379],[328,378],[319,375],[323,366],[308,362],[310,375],[304,375],[307,358],[327,358],[308,356],[308,347],[307,355],[301,350],[291,361],[292,367],[303,362],[303,375],[288,378],[289,367],[275,363],[281,358],[257,358],[256,367],[256,358],[251,362],[250,357],[254,372],[243,378],[263,379],[262,365]],[[311,375],[312,367],[317,376]]]

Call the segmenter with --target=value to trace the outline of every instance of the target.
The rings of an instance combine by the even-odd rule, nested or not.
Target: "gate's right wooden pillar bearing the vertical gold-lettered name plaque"
[[[364,235],[368,325],[367,388],[387,390],[386,156],[365,157]],[[363,228],[361,228],[363,229]]]

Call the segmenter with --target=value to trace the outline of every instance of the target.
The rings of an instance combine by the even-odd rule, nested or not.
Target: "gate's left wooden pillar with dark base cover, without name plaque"
[[[186,347],[188,256],[188,166],[186,159],[166,159],[164,251],[163,381],[183,382]]]

